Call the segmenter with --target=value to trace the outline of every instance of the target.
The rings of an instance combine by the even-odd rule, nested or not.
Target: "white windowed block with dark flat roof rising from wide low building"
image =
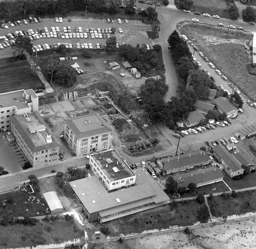
[[[135,173],[116,150],[90,155],[89,163],[94,175],[108,191],[135,184]]]

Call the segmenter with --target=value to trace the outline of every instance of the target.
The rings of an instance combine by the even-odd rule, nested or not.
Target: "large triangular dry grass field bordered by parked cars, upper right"
[[[251,63],[244,43],[252,39],[248,32],[212,27],[206,24],[185,24],[181,33],[200,48],[209,60],[220,69],[224,75],[238,86],[253,101],[256,100],[255,80],[247,70]]]

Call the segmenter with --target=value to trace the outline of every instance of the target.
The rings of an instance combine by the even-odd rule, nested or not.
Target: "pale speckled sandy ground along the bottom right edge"
[[[251,218],[184,232],[166,232],[159,235],[97,244],[94,249],[233,249],[254,248],[256,244],[256,220]]]

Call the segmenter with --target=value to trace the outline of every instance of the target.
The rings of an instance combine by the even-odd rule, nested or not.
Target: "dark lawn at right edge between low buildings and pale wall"
[[[243,188],[250,188],[256,186],[256,172],[252,172],[246,176],[244,176],[240,180],[233,180],[230,178],[225,170],[222,170],[222,173],[224,175],[223,180],[225,183],[232,189],[232,190],[237,190],[237,189],[243,189]],[[219,192],[219,191],[218,191]]]

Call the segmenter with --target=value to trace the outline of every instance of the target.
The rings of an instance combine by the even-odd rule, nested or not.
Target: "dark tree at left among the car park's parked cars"
[[[15,39],[15,43],[11,44],[13,49],[13,56],[16,56],[18,60],[24,55],[25,52],[32,54],[32,43],[28,36],[18,36]]]

